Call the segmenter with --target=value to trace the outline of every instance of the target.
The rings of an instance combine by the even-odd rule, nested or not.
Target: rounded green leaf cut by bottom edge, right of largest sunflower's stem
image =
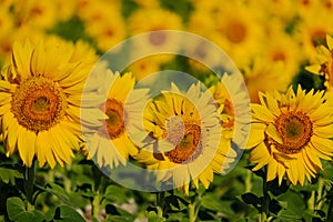
[[[80,213],[70,205],[61,205],[57,208],[54,221],[62,222],[85,222]]]

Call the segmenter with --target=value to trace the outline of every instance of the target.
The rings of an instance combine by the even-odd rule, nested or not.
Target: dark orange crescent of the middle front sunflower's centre
[[[201,153],[201,128],[196,124],[185,122],[184,129],[181,130],[183,130],[183,132],[173,132],[173,135],[183,134],[182,139],[179,140],[179,137],[176,135],[174,141],[179,141],[178,144],[173,150],[165,152],[165,155],[174,163],[189,163],[195,160],[195,158]]]

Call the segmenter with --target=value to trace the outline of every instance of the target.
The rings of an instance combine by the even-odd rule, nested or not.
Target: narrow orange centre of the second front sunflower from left
[[[123,105],[114,99],[108,99],[104,109],[109,118],[105,120],[107,132],[102,132],[102,134],[107,135],[105,133],[108,133],[110,139],[115,139],[124,131]]]

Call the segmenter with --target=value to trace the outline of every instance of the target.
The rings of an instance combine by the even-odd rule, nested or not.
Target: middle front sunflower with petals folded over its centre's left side
[[[198,83],[181,93],[172,83],[171,91],[148,103],[143,117],[149,137],[137,160],[157,172],[158,182],[172,181],[185,194],[191,181],[208,189],[225,153],[218,147],[221,128],[210,91],[201,93]]]

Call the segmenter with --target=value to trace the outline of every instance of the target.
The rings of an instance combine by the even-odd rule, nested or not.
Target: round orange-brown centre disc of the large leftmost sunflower
[[[33,77],[12,94],[11,111],[19,124],[31,130],[49,130],[65,114],[67,100],[52,80]]]

